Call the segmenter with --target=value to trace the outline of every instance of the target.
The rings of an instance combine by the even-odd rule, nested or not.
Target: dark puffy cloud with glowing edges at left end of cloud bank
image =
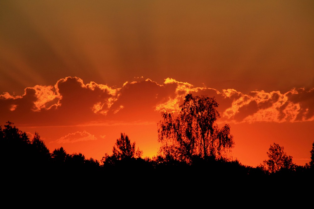
[[[120,88],[95,82],[84,84],[78,77],[60,79],[54,86],[25,88],[22,96],[0,95],[3,119],[16,123],[73,124],[106,115]]]

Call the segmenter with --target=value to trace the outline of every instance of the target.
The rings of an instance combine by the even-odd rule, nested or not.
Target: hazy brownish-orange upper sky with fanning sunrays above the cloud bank
[[[0,15],[0,92],[66,76],[314,86],[313,1],[3,0]]]

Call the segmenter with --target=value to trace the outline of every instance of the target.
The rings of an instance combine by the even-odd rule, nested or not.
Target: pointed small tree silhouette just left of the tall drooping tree
[[[116,140],[116,144],[112,148],[112,155],[106,153],[101,162],[115,164],[116,160],[140,158],[142,155],[143,151],[139,148],[135,150],[135,142],[131,143],[129,137],[125,133],[121,133],[121,137]]]

